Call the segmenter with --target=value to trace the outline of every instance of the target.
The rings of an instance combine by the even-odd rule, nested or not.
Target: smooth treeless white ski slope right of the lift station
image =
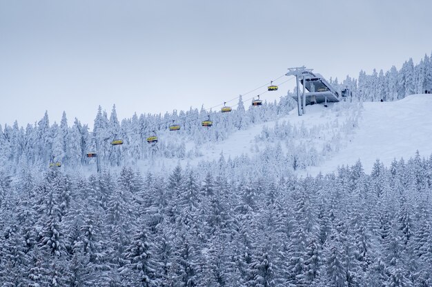
[[[432,96],[411,95],[400,101],[364,103],[355,135],[346,147],[322,162],[307,168],[311,175],[332,172],[342,164],[360,159],[370,172],[376,159],[389,165],[394,158],[409,159],[416,150],[423,157],[432,152]]]

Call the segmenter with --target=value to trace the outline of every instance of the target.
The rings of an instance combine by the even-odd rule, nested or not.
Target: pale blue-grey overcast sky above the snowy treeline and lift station
[[[208,108],[302,65],[399,69],[431,55],[431,29],[430,0],[0,0],[0,124]]]

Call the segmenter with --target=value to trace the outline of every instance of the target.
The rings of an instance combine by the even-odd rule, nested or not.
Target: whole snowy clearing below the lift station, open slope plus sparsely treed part
[[[352,166],[359,159],[365,172],[369,173],[376,159],[389,165],[395,158],[413,157],[416,150],[425,157],[431,154],[430,106],[431,95],[411,95],[393,102],[367,102],[362,106],[353,103],[335,103],[328,108],[322,105],[307,106],[306,115],[302,117],[297,116],[297,109],[292,110],[288,116],[277,121],[238,130],[222,142],[195,147],[200,156],[180,162],[195,166],[199,161],[217,160],[221,154],[231,158],[240,155],[253,157],[277,143],[281,144],[286,154],[291,152],[288,143],[294,142],[297,153],[311,148],[317,151],[316,164],[297,170],[297,175],[334,172],[338,166]],[[279,127],[284,124],[291,125],[293,130],[305,130],[307,135],[297,132],[297,135],[282,139],[271,136],[259,138],[268,130],[281,129]],[[190,143],[188,147],[192,148],[193,144]],[[177,163],[162,161],[158,164],[173,168]],[[146,165],[142,168],[147,170]]]

